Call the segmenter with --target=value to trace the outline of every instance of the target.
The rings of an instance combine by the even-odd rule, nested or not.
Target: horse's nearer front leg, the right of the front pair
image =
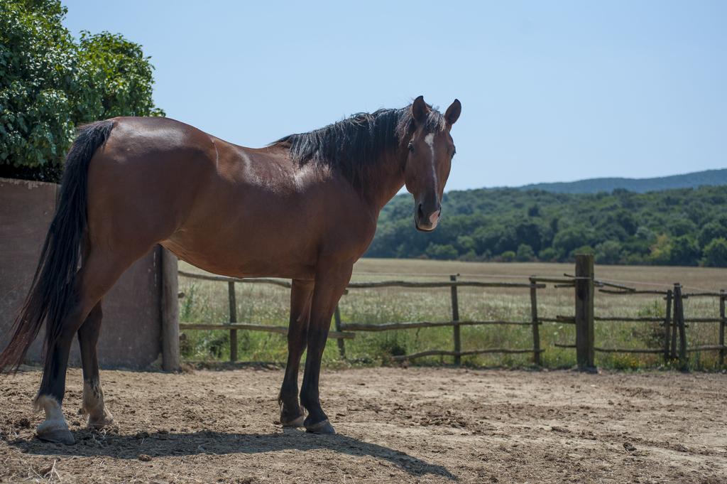
[[[310,307],[308,323],[308,356],[305,357],[305,373],[300,390],[300,402],[308,410],[303,425],[308,432],[334,434],[328,416],[321,408],[318,398],[318,381],[321,375],[321,359],[326,348],[331,317],[338,300],[348,285],[353,262],[323,266],[316,271],[316,287]]]

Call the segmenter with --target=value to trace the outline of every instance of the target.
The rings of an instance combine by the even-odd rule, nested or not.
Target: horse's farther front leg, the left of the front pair
[[[283,427],[302,427],[303,412],[298,401],[298,368],[305,351],[310,301],[315,282],[294,279],[290,290],[290,322],[288,325],[288,364],[278,395],[280,423]]]

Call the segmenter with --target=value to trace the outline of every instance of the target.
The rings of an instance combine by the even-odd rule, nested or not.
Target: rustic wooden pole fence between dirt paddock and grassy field
[[[580,368],[594,368],[595,352],[623,352],[623,353],[662,353],[664,360],[678,360],[680,365],[686,366],[686,354],[693,351],[718,351],[719,364],[724,365],[727,346],[725,345],[725,328],[727,326],[727,318],[725,316],[725,301],[727,293],[724,290],[719,293],[682,293],[679,284],[675,284],[673,290],[636,290],[632,287],[623,285],[601,282],[595,279],[593,273],[593,256],[578,255],[575,267],[575,275],[563,274],[563,277],[537,277],[532,276],[529,282],[476,282],[463,281],[457,279],[456,275],[450,276],[449,282],[409,282],[409,281],[382,281],[382,282],[351,282],[348,290],[372,289],[385,287],[409,287],[414,289],[433,289],[433,288],[449,288],[451,301],[451,320],[444,321],[409,321],[409,322],[388,322],[385,324],[375,325],[365,322],[343,322],[341,313],[338,308],[334,312],[334,330],[329,332],[329,338],[337,340],[338,349],[342,358],[346,357],[345,340],[356,337],[357,332],[361,331],[387,331],[387,330],[407,330],[417,328],[435,328],[435,327],[451,327],[452,328],[452,349],[432,349],[425,352],[414,354],[406,354],[393,357],[394,360],[413,360],[419,357],[427,356],[451,356],[454,357],[455,365],[461,363],[463,356],[473,354],[487,353],[520,353],[532,354],[532,361],[535,365],[541,364],[541,354],[545,352],[540,344],[539,326],[545,322],[557,322],[561,324],[573,324],[576,329],[575,344],[555,344],[556,347],[574,348],[576,349],[577,362]],[[237,331],[268,331],[270,333],[286,334],[288,328],[285,326],[270,326],[254,324],[252,322],[238,322],[236,312],[236,294],[235,285],[244,284],[268,284],[280,287],[290,288],[291,283],[281,279],[237,279],[234,277],[214,276],[211,274],[195,274],[192,272],[178,271],[180,277],[191,279],[201,279],[208,281],[227,282],[228,299],[229,299],[229,320],[220,324],[214,322],[193,323],[193,322],[176,322],[169,320],[167,327],[171,330],[165,330],[173,337],[174,330],[229,330],[230,331],[230,360],[237,360]],[[546,287],[546,284],[553,284],[554,287],[574,287],[575,304],[574,316],[558,315],[555,318],[540,317],[537,306],[537,290]],[[530,295],[531,317],[528,321],[513,320],[460,320],[459,319],[459,287],[507,287],[528,290]],[[666,315],[660,317],[619,317],[608,316],[598,317],[594,315],[593,301],[595,287],[601,287],[600,292],[608,295],[635,295],[635,294],[658,294],[664,295],[666,304]],[[605,287],[605,288],[604,288]],[[172,290],[176,288],[176,284]],[[347,292],[348,292],[347,290]],[[169,290],[171,293],[171,290]],[[166,292],[165,292],[166,294]],[[720,316],[715,318],[691,318],[685,319],[683,310],[683,300],[686,298],[696,297],[718,297],[720,301]],[[176,301],[175,301],[176,302]],[[173,311],[171,311],[173,313]],[[176,317],[176,315],[172,316]],[[171,319],[171,318],[168,318]],[[663,348],[649,349],[619,349],[619,348],[599,348],[595,346],[594,341],[594,322],[661,322],[664,325],[665,344]],[[694,346],[688,348],[686,342],[687,323],[701,322],[718,322],[720,323],[719,343],[716,345]],[[462,326],[475,325],[520,325],[529,326],[532,330],[532,346],[529,348],[483,348],[462,351],[462,336],[460,328]],[[678,344],[677,344],[678,342]],[[176,352],[177,362],[179,360],[178,344],[176,349],[170,349],[170,352]],[[174,357],[168,358],[174,361]],[[173,366],[173,363],[170,364]],[[178,363],[177,363],[178,365]],[[169,369],[169,365],[164,368]]]

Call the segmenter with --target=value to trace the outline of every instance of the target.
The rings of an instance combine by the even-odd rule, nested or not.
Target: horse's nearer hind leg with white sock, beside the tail
[[[141,254],[140,254],[141,255]],[[140,257],[139,255],[139,257]],[[92,309],[138,257],[92,251],[76,274],[76,290],[68,312],[60,322],[57,340],[47,348],[43,378],[36,397],[36,408],[44,410],[46,419],[36,429],[36,436],[49,442],[72,444],[73,435],[63,418],[63,395],[68,353],[73,336],[87,320]],[[97,324],[100,324],[98,318]],[[95,320],[92,320],[94,322]]]

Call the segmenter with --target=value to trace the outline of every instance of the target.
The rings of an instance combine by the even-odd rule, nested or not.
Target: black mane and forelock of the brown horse
[[[444,116],[430,106],[427,132],[444,130]],[[387,149],[398,148],[414,132],[411,105],[358,113],[318,130],[287,135],[272,145],[287,145],[300,166],[314,163],[340,170],[357,189],[363,188],[364,171],[374,167]]]

